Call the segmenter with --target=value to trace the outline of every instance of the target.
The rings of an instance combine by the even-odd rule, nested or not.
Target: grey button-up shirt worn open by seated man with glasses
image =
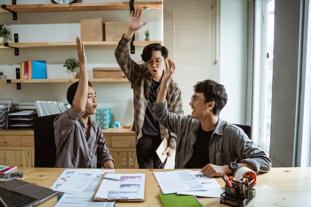
[[[159,123],[176,134],[175,168],[185,168],[193,153],[200,122],[190,115],[178,116],[168,112],[166,101],[154,103],[153,111]],[[215,165],[228,165],[229,162],[240,159],[240,162],[249,164],[257,174],[271,168],[270,158],[242,129],[220,118],[209,143],[209,153],[210,163]]]

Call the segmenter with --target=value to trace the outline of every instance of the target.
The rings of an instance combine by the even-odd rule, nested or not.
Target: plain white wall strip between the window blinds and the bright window
[[[235,124],[245,123],[246,11],[246,0],[221,0],[221,83],[228,103],[220,116]]]

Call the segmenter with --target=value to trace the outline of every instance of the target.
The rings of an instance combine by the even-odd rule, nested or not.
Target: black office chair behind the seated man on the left
[[[35,167],[55,167],[56,146],[53,122],[58,115],[38,117],[34,120]]]

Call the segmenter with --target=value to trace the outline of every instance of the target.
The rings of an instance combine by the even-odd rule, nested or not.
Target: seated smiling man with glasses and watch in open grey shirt
[[[175,168],[202,168],[209,177],[231,174],[244,166],[257,174],[269,171],[271,160],[267,154],[242,129],[219,118],[227,104],[223,85],[213,80],[199,81],[189,103],[192,114],[168,112],[165,95],[174,71],[174,63],[168,60],[153,112],[158,122],[177,136]]]

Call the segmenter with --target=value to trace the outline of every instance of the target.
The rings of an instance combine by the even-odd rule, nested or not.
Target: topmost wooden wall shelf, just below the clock
[[[55,12],[55,11],[103,11],[103,10],[129,10],[129,2],[101,2],[101,3],[66,3],[66,4],[14,4],[4,5],[13,12]],[[144,8],[161,10],[162,1],[134,1],[135,8]],[[0,13],[9,13],[10,11],[0,8]]]

